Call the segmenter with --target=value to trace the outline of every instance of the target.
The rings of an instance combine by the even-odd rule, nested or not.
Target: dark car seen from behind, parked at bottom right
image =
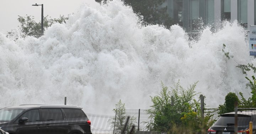
[[[249,123],[252,121],[252,133],[256,133],[256,111],[238,111],[237,134],[249,134]],[[208,134],[234,134],[235,112],[224,113],[212,127],[208,129]]]

